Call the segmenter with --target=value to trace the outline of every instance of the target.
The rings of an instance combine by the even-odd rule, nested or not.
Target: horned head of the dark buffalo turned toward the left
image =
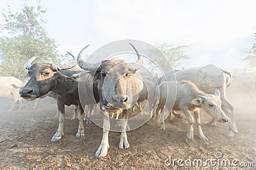
[[[76,66],[76,60],[73,55],[74,60],[64,66],[56,66],[55,64],[49,63],[37,63],[32,65],[31,63],[38,56],[39,55],[31,57],[25,64],[30,79],[28,83],[20,89],[20,96],[29,101],[44,96],[49,91],[54,90],[57,81],[74,81],[72,78],[60,73],[60,70],[70,69]]]

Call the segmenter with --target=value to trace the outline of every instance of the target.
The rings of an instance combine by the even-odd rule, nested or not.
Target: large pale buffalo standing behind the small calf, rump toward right
[[[236,122],[234,119],[234,106],[225,96],[226,87],[231,83],[231,74],[228,71],[220,69],[212,64],[204,67],[191,67],[179,71],[170,71],[157,80],[160,84],[163,81],[188,80],[195,83],[196,87],[207,94],[214,94],[215,90],[220,91],[221,108],[225,111],[229,118],[228,137],[234,137],[237,132]],[[216,125],[216,119],[211,121],[212,125]]]

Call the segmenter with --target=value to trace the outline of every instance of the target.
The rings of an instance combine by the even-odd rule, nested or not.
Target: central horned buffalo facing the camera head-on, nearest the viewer
[[[119,148],[129,148],[127,135],[127,114],[133,104],[136,103],[135,89],[139,94],[143,90],[143,81],[134,74],[143,65],[143,57],[138,50],[130,43],[135,50],[138,59],[134,63],[127,63],[124,60],[102,60],[96,64],[88,63],[83,59],[86,47],[81,50],[77,57],[77,64],[86,71],[95,71],[95,80],[99,80],[98,90],[100,95],[100,109],[103,112],[103,137],[96,157],[104,157],[108,153],[108,132],[110,128],[109,113],[122,113],[120,125],[122,129]]]

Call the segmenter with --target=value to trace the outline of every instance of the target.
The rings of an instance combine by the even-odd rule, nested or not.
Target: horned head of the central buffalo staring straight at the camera
[[[131,44],[131,43],[130,43]],[[132,83],[141,81],[135,78],[134,74],[143,64],[143,58],[136,48],[131,44],[137,53],[138,59],[135,63],[127,63],[124,60],[103,60],[96,64],[86,62],[82,56],[86,47],[79,53],[77,64],[87,70],[95,71],[95,77],[99,80],[98,90],[100,104],[104,111],[116,111],[131,108],[132,105]],[[140,82],[139,82],[140,83]]]

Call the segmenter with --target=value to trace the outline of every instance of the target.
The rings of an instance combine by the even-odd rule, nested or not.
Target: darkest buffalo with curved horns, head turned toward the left
[[[69,54],[72,55],[71,53]],[[76,66],[77,64],[74,55],[72,55],[74,60],[72,60],[72,62],[68,62],[64,66],[56,66],[55,64],[49,63],[32,64],[32,62],[38,56],[39,55],[32,57],[25,64],[26,69],[29,70],[28,74],[30,76],[30,79],[28,83],[22,89],[20,89],[20,96],[29,101],[34,100],[38,97],[42,97],[50,91],[54,92],[54,94],[58,96],[57,104],[58,112],[60,113],[59,126],[58,131],[56,132],[56,134],[54,134],[51,141],[58,141],[63,136],[65,105],[77,105],[79,107],[79,128],[76,137],[84,137],[84,110],[79,101],[78,82],[70,77],[73,74],[80,73],[80,71],[68,70]],[[86,84],[85,86],[87,87],[86,89],[88,89],[89,92],[92,92],[92,86]],[[94,96],[97,96],[97,89],[94,91]],[[87,97],[90,98],[89,93]],[[88,100],[87,102],[88,104],[91,104],[94,102],[94,100]]]

